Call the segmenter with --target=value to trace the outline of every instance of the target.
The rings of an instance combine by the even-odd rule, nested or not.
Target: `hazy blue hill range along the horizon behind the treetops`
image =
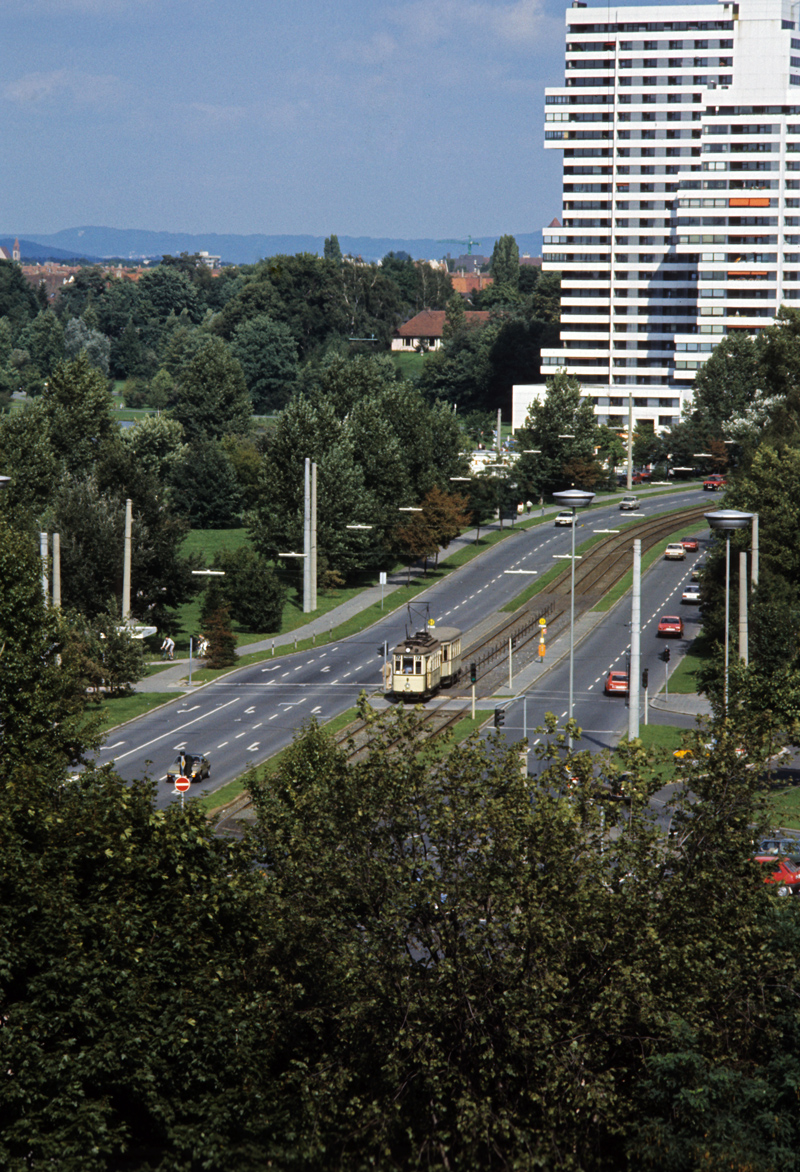
[[[491,254],[497,239],[498,236],[481,236],[480,245],[473,244],[473,251]],[[11,250],[14,237],[9,240],[7,247]],[[465,251],[459,245],[425,238],[403,240],[398,237],[340,236],[339,243],[342,252],[363,257],[364,260],[380,260],[388,252],[408,252],[415,260],[435,260],[447,253],[456,257]],[[541,253],[541,232],[517,233],[517,243],[521,253]],[[0,237],[0,244],[6,244],[6,237]],[[163,257],[164,253],[210,252],[212,257],[221,257],[224,264],[253,265],[264,257],[279,253],[315,252],[322,255],[323,245],[323,236],[221,236],[214,232],[192,236],[138,229],[70,227],[50,236],[28,233],[25,240],[20,239],[20,252],[30,259],[53,260],[101,260],[110,257],[142,260]]]

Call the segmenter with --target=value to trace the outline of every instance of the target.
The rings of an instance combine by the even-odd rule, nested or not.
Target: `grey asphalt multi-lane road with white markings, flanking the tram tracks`
[[[707,495],[697,489],[644,498],[643,512],[652,516],[704,499],[707,499]],[[712,502],[709,506],[713,506]],[[579,544],[594,529],[608,527],[609,523],[618,520],[617,504],[579,515]],[[567,527],[556,529],[552,524],[545,524],[533,530],[518,530],[505,541],[488,547],[479,558],[449,574],[446,579],[432,584],[419,595],[413,604],[418,618],[412,626],[415,629],[423,626],[422,615],[428,607],[437,622],[446,621],[447,625],[467,631],[511,601],[524,588],[522,575],[505,571],[533,570],[543,573],[553,565],[554,554],[568,553],[569,547],[570,532]],[[677,582],[688,574],[689,561],[670,564],[669,570]],[[645,581],[651,578],[652,574],[647,575]],[[661,571],[655,573],[654,580],[661,578]],[[661,594],[664,594],[663,588]],[[643,614],[649,613],[645,612],[645,605],[643,600]],[[652,607],[657,606],[658,599],[654,598]],[[622,649],[629,642],[628,632],[617,627],[620,622],[624,626],[623,609],[617,608],[603,622],[603,633],[597,635],[596,653],[584,659],[581,650],[581,675],[576,668],[576,681],[580,681],[577,686],[587,696],[597,688],[597,683],[592,681],[602,674],[602,668],[609,660],[608,652],[603,656],[602,648],[618,646]],[[405,612],[396,612],[351,639],[322,646],[317,650],[283,655],[274,662],[240,668],[191,695],[111,730],[107,745],[97,756],[97,763],[114,762],[121,776],[127,779],[145,775],[163,779],[178,750],[187,749],[201,752],[211,761],[210,779],[192,786],[192,796],[217,789],[239,777],[249,765],[289,744],[294,731],[309,716],[316,716],[320,721],[330,720],[351,707],[362,689],[374,691],[378,688],[383,665],[378,649],[384,641],[389,647],[397,643],[405,632]],[[643,666],[647,662],[643,656]],[[542,681],[547,693],[541,693],[541,702],[548,694],[546,707],[554,704],[554,710],[561,711],[565,704],[558,704],[558,697],[562,694],[559,670],[546,682]],[[590,687],[584,682],[589,675]],[[576,716],[586,724],[587,736],[600,743],[611,736],[615,722],[610,714],[622,714],[624,701],[614,699],[606,703],[603,697],[597,699],[604,707],[595,709],[592,703],[584,708],[581,693],[581,708],[576,708]],[[539,710],[543,710],[539,696],[536,704],[540,706]],[[627,717],[622,721],[623,727]],[[172,800],[172,789],[160,785],[158,805],[165,806]]]

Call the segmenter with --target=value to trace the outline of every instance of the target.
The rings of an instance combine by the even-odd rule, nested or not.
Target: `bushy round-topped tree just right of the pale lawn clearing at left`
[[[204,341],[178,375],[170,414],[183,424],[187,443],[246,435],[252,403],[241,367],[220,338]]]

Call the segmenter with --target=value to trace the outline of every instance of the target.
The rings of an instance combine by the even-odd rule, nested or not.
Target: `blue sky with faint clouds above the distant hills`
[[[565,7],[2,0],[0,232],[536,231]]]

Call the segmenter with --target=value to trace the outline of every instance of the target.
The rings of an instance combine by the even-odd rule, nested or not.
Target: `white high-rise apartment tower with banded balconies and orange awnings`
[[[565,83],[546,91],[563,151],[566,368],[600,422],[677,422],[720,338],[800,298],[800,8],[788,0],[567,9]]]

